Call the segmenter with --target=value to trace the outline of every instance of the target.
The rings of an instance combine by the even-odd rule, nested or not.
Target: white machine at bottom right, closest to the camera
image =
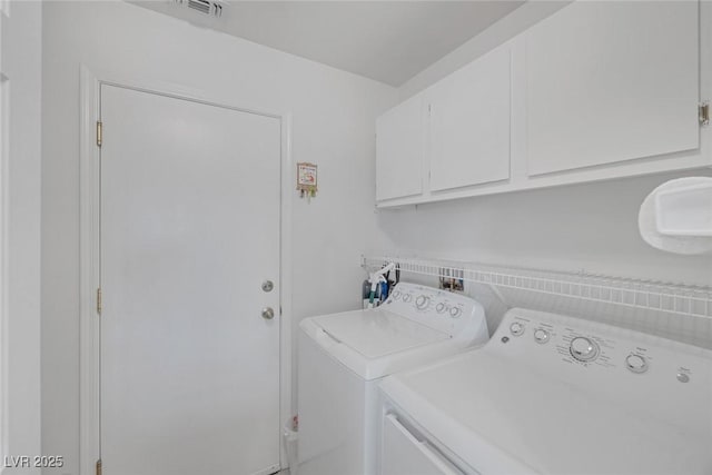
[[[382,388],[382,475],[712,474],[703,348],[515,308],[483,348]]]

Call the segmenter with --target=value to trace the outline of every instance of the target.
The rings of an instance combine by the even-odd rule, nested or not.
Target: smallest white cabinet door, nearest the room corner
[[[376,120],[376,200],[423,192],[423,122],[421,95]]]

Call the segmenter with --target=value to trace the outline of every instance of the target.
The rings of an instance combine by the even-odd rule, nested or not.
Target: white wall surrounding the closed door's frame
[[[79,444],[79,65],[209,92],[293,117],[293,159],[319,166],[293,192],[294,317],[359,305],[375,232],[374,121],[394,88],[118,2],[44,2],[42,444],[77,474]]]

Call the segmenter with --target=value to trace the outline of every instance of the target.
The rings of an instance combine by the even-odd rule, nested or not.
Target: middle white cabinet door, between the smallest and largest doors
[[[431,190],[510,178],[508,46],[445,78],[431,95]]]

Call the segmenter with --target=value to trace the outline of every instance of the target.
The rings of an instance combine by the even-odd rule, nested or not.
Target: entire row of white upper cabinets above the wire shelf
[[[379,207],[712,166],[712,1],[578,0],[511,38],[378,119]]]

